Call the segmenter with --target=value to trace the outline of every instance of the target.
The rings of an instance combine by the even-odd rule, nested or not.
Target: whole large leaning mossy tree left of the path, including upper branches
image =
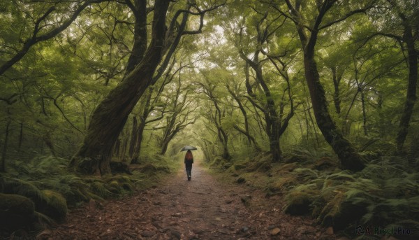
[[[141,52],[144,50],[144,45],[147,44],[144,27],[147,26],[147,19],[141,18],[141,13],[145,13],[146,1],[138,1],[138,5],[133,6],[128,3],[128,7],[133,10],[136,15],[135,20],[140,21],[143,28],[136,28],[134,32],[133,52],[128,59],[127,73],[122,83],[117,85],[108,96],[101,101],[95,109],[87,134],[84,138],[82,146],[78,153],[75,154],[71,161],[71,167],[75,167],[78,171],[86,174],[106,174],[110,172],[110,157],[112,148],[115,146],[119,133],[122,131],[129,113],[133,110],[138,99],[145,92],[147,87],[154,83],[155,71],[160,72],[159,66],[163,55],[167,51],[166,58],[160,66],[162,71],[166,69],[168,59],[175,51],[179,38],[185,34],[198,34],[203,27],[203,17],[208,10],[213,10],[219,6],[210,6],[206,10],[201,10],[196,3],[186,3],[186,9],[177,10],[174,14],[169,27],[166,29],[166,15],[168,15],[169,1],[158,0],[154,4],[153,23],[152,23],[152,38],[145,50],[143,57]],[[191,12],[189,9],[194,8],[196,12]],[[199,15],[200,24],[196,31],[187,31],[186,22],[184,24],[177,24],[177,17],[184,16],[182,22],[189,14]],[[137,23],[135,23],[137,24]],[[135,41],[139,41],[136,43]],[[133,69],[130,71],[130,66]],[[135,67],[134,67],[135,66]]]

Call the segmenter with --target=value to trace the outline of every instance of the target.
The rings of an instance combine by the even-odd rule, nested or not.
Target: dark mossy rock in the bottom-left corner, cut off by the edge
[[[0,229],[22,229],[35,220],[35,204],[28,197],[0,193]]]

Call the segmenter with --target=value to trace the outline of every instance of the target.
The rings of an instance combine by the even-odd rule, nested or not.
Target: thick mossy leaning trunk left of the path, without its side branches
[[[152,41],[145,56],[95,109],[83,144],[71,161],[71,167],[84,174],[110,173],[112,148],[129,113],[151,83],[162,57],[166,34],[168,0],[157,0],[154,6]]]

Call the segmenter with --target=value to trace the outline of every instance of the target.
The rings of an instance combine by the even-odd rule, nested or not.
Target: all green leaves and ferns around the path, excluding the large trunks
[[[301,24],[310,29],[319,1],[300,3]],[[178,161],[159,156],[159,145],[168,139],[163,129],[176,129],[198,118],[173,137],[169,155],[175,156],[179,147],[190,141],[201,147],[205,155],[202,158],[211,162],[211,167],[241,172],[247,183],[251,183],[251,174],[270,174],[269,180],[258,178],[257,184],[270,195],[285,194],[287,212],[298,214],[295,209],[303,206],[303,213],[311,211],[324,225],[344,229],[356,221],[389,226],[417,223],[418,103],[405,143],[407,157],[390,155],[395,151],[409,77],[403,30],[409,24],[415,29],[418,8],[415,1],[375,1],[373,8],[361,11],[363,14],[346,17],[368,3],[336,1],[323,16],[320,26],[324,28],[319,31],[315,52],[329,112],[337,128],[368,161],[364,171],[353,174],[339,170],[337,157],[325,146],[305,83],[295,23],[278,11],[288,13],[286,3],[233,0],[211,17],[206,16],[205,33],[200,38],[195,34],[182,38],[168,71],[153,85],[156,91],[152,94],[152,110],[145,120],[157,120],[147,122],[141,133],[141,165],[133,167],[133,175],[86,178],[69,172],[64,157],[77,152],[92,112],[122,80],[132,52],[131,22],[135,14],[123,1],[110,1],[100,7],[94,3],[78,16],[77,24],[32,46],[20,62],[1,74],[0,146],[8,172],[0,178],[1,192],[27,196],[36,206],[51,202],[64,206],[59,197],[62,195],[68,206],[78,206],[89,199],[103,201],[135,188],[148,188],[177,167]],[[182,4],[184,1],[173,3],[168,18],[183,9]],[[75,5],[70,1],[0,1],[0,66],[32,38],[35,24],[40,24],[39,37],[66,21]],[[54,6],[53,13],[44,15],[50,6]],[[39,18],[42,16],[45,19]],[[148,20],[151,17],[148,15]],[[343,21],[334,22],[338,19]],[[188,31],[196,29],[199,17],[191,20],[196,22],[188,22]],[[328,25],[330,22],[333,24]],[[414,41],[417,47],[417,38]],[[257,80],[255,69],[245,68],[241,52],[260,67],[270,97]],[[270,61],[272,56],[279,70]],[[333,81],[336,77],[337,85]],[[163,81],[168,81],[166,87]],[[203,85],[210,89],[207,93],[211,97],[205,94]],[[245,113],[227,91],[227,85]],[[173,97],[177,89],[179,94]],[[269,154],[261,153],[269,149],[270,142],[266,106],[267,100],[274,101],[276,119],[284,120],[291,111],[287,90],[294,101],[295,115],[281,135],[284,159],[277,164],[270,162]],[[361,94],[365,104],[360,101]],[[181,107],[179,103],[186,96],[187,104]],[[339,111],[334,106],[336,100]],[[143,118],[145,102],[142,98],[131,113],[138,121]],[[219,113],[215,113],[215,104],[219,105]],[[188,118],[184,118],[186,115]],[[221,119],[219,126],[216,117]],[[130,119],[119,135],[115,147],[119,152],[112,155],[118,161],[130,160],[126,152],[135,132]],[[249,136],[258,144],[237,130],[245,129],[245,122]],[[219,157],[224,147],[220,127],[228,137],[233,160]],[[36,214],[47,221],[45,214]],[[403,221],[406,216],[411,219]]]

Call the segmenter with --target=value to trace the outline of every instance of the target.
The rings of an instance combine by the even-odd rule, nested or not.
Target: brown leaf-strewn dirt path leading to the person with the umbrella
[[[38,239],[336,239],[309,216],[281,213],[279,196],[220,176],[196,163],[187,181],[179,166],[156,188],[73,209]]]

